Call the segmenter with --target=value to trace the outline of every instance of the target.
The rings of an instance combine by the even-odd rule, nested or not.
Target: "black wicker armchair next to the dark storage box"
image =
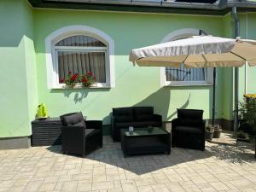
[[[102,148],[102,120],[84,120],[82,113],[60,116],[63,154],[85,154]]]

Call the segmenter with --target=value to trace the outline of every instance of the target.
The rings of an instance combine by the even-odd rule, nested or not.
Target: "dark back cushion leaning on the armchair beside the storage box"
[[[61,122],[63,125],[79,125],[86,127],[84,123],[84,117],[81,112],[79,113],[68,113],[61,116]]]

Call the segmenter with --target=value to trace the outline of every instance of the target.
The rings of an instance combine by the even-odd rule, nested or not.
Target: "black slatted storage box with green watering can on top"
[[[32,121],[32,146],[61,145],[61,119]]]

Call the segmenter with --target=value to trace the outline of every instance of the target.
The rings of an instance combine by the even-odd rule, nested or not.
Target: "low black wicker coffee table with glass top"
[[[160,127],[134,128],[120,131],[121,147],[125,157],[131,154],[170,154],[171,134]]]

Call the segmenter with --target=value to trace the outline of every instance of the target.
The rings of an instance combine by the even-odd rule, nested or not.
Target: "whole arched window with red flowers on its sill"
[[[46,38],[49,88],[64,88],[68,73],[91,72],[97,87],[113,87],[113,40],[89,26],[67,26]]]

